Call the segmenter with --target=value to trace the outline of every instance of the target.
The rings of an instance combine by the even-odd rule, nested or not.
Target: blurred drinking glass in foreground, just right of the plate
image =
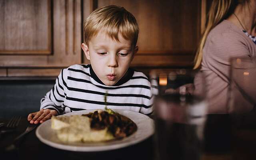
[[[194,85],[194,78],[201,85]],[[204,75],[184,69],[153,70],[150,80],[157,95],[156,159],[200,160],[207,113]]]

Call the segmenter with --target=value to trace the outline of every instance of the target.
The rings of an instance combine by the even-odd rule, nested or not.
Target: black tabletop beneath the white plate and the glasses
[[[0,122],[6,123],[9,120],[10,119],[0,119]],[[237,148],[234,148],[235,152],[232,152],[232,134],[229,124],[229,116],[208,116],[208,121],[206,122],[205,127],[205,145],[201,160],[256,159],[256,152],[254,152],[256,146],[256,130],[244,130],[243,132],[240,132],[241,135],[238,135],[240,141],[237,143]],[[104,152],[72,152],[53,148],[42,143],[36,137],[36,129],[32,130],[18,141],[18,149],[4,152],[4,148],[10,145],[16,136],[24,132],[28,125],[29,123],[26,117],[23,117],[15,132],[4,134],[0,137],[0,159],[156,160],[154,136],[151,136],[138,144],[116,150]]]

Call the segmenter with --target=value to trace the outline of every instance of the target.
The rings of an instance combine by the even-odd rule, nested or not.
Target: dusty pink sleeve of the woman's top
[[[212,108],[223,109],[226,108],[227,105],[229,105],[227,102],[227,96],[229,96],[230,94],[228,88],[230,87],[231,82],[230,58],[250,58],[251,56],[252,53],[249,50],[248,42],[244,39],[244,37],[239,34],[224,32],[222,34],[210,35],[208,37],[203,49],[203,61],[201,70],[205,71],[206,73],[213,72],[217,76],[215,79],[209,79],[211,77],[210,74],[208,79],[206,77],[206,80],[208,81],[207,83],[209,83],[210,86],[207,89],[208,97],[210,97],[211,99],[211,106],[214,106]],[[242,74],[238,77],[238,79],[240,78],[243,78]],[[222,82],[220,82],[220,80],[222,80]],[[252,88],[246,88],[248,84],[254,84],[253,78],[251,78],[249,82],[246,83],[246,85],[243,82],[237,82],[240,93],[250,93],[250,90]],[[253,104],[251,103],[252,101],[249,102],[248,100],[246,100],[246,98],[244,98],[242,94],[237,94],[236,99],[240,100],[241,104],[246,104],[246,106],[248,106],[249,108],[253,107]],[[245,109],[245,107],[243,108]]]

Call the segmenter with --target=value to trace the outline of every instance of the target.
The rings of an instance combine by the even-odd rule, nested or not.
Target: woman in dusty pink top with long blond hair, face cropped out
[[[206,74],[209,113],[228,113],[230,58],[256,57],[255,26],[256,0],[213,0],[194,66]]]

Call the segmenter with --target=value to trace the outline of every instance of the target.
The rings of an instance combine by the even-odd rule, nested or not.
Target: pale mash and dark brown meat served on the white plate
[[[130,136],[136,124],[110,109],[73,116],[53,116],[52,129],[63,142],[99,142]]]

